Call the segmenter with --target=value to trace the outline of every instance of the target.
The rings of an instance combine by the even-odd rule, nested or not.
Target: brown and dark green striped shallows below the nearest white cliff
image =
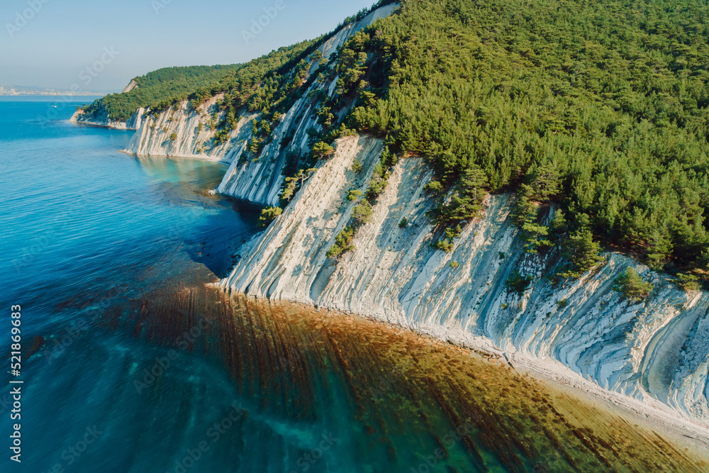
[[[136,301],[130,314],[135,332],[167,345],[209,321],[190,350],[223,360],[261,411],[336,429],[364,472],[709,469],[698,452],[494,354],[379,321],[200,287]]]

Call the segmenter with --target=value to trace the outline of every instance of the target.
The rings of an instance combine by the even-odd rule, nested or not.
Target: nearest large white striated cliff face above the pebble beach
[[[355,205],[345,196],[367,189],[381,149],[374,138],[338,140],[334,157],[284,213],[242,247],[223,286],[377,316],[441,338],[483,338],[709,425],[709,294],[687,294],[617,253],[606,254],[595,272],[554,285],[545,275],[557,265],[558,250],[543,257],[523,251],[508,218],[512,196],[491,196],[446,254],[430,246],[434,229],[425,213],[431,202],[423,191],[430,174],[420,158],[400,160],[372,221],[355,235],[354,251],[328,260],[325,252]],[[352,171],[355,159],[362,172]],[[654,284],[641,303],[612,289],[628,266]],[[506,290],[515,269],[534,276],[524,294]]]

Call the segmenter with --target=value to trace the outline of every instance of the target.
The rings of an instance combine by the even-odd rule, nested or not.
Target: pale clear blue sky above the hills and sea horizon
[[[252,21],[282,1],[261,33]],[[0,84],[82,90],[123,89],[167,66],[245,62],[315,38],[374,0],[2,0]],[[18,14],[20,17],[18,17]],[[26,19],[30,18],[30,19]],[[265,18],[262,18],[265,23]],[[113,58],[105,49],[113,50]],[[106,61],[93,72],[86,67]],[[102,69],[97,72],[98,69]],[[82,74],[82,71],[84,73]],[[81,75],[80,75],[81,74]]]

